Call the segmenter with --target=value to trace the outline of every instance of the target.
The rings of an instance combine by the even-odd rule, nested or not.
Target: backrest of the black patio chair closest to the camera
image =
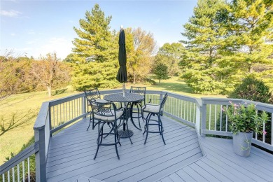
[[[97,116],[112,117],[116,116],[116,105],[113,102],[96,102],[94,99],[90,100],[92,113]],[[103,120],[103,118],[102,118]]]

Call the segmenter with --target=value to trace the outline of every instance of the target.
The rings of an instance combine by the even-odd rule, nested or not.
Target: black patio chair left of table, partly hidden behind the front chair
[[[94,127],[97,125],[97,122],[95,122],[94,120],[94,114],[92,113],[92,109],[89,111],[89,108],[91,107],[90,101],[95,100],[97,102],[105,102],[105,103],[107,103],[108,101],[101,99],[101,94],[99,93],[99,89],[97,87],[92,88],[90,90],[85,90],[84,92],[85,92],[85,97],[87,102],[87,113],[90,113],[90,120],[89,120],[89,125],[87,127],[87,130],[89,129],[91,123],[92,123],[92,130],[94,130]]]

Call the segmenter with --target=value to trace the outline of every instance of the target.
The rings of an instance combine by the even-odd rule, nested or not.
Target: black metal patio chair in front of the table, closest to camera
[[[97,157],[97,153],[99,151],[99,146],[115,146],[116,148],[116,154],[118,156],[118,159],[120,159],[120,156],[118,155],[118,148],[117,145],[120,144],[120,137],[118,136],[118,128],[123,125],[123,123],[120,122],[119,125],[117,124],[117,120],[123,119],[123,109],[117,109],[116,105],[113,102],[108,103],[102,103],[97,102],[94,100],[90,101],[91,107],[92,107],[92,113],[94,113],[94,119],[98,120],[98,137],[97,137],[97,151],[94,155],[94,160]],[[104,132],[104,125],[111,125],[110,132]],[[111,141],[106,141],[105,143],[102,143],[102,140],[105,140],[105,137],[107,136],[113,136],[113,139]],[[107,137],[109,139],[109,137]],[[121,146],[121,144],[120,144]]]

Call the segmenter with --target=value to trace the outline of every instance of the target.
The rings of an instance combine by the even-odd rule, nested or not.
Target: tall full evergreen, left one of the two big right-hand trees
[[[182,35],[188,40],[181,41],[186,45],[181,62],[184,67],[182,78],[193,92],[225,94],[235,84],[232,63],[221,55],[227,36],[227,16],[225,1],[199,0],[193,17],[183,26]]]

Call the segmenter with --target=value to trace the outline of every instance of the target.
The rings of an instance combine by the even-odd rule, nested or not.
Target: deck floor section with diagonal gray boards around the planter
[[[251,155],[242,158],[233,153],[230,139],[201,137],[201,144],[207,156],[174,172],[184,181],[273,180],[273,155],[252,146]]]

